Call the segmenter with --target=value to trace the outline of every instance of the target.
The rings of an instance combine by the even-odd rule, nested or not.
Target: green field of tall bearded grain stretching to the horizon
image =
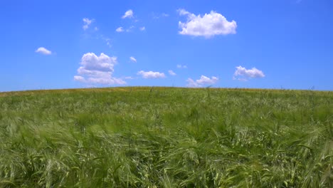
[[[333,93],[0,93],[0,187],[333,187]]]

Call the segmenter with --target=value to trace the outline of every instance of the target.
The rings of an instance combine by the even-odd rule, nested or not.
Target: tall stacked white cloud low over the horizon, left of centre
[[[85,53],[81,58],[78,75],[74,76],[74,80],[82,83],[98,83],[98,84],[125,84],[121,78],[112,77],[114,66],[117,63],[116,57],[109,57],[104,53],[96,56],[95,53]]]

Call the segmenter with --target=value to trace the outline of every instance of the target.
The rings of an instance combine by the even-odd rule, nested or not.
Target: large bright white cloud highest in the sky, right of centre
[[[187,16],[187,21],[182,23],[179,21],[179,31],[182,35],[190,36],[205,36],[211,37],[215,35],[235,34],[237,23],[236,21],[227,21],[226,17],[218,14],[216,11],[211,11],[210,14],[196,16],[184,9],[178,10],[180,16]]]

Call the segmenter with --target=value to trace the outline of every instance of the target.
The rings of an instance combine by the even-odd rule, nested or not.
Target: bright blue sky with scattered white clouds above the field
[[[0,91],[333,90],[333,1],[1,1]]]

